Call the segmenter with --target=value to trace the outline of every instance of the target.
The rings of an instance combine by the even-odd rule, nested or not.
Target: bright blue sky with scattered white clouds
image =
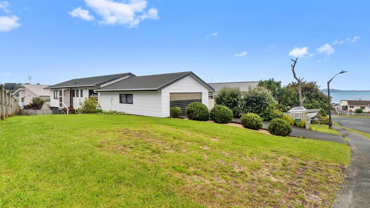
[[[193,71],[370,90],[368,1],[0,0],[0,83]],[[291,56],[290,56],[291,55]]]

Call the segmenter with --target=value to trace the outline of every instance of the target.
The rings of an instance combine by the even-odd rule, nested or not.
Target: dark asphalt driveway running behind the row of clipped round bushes
[[[232,120],[232,123],[240,124],[240,119],[234,118]],[[268,126],[269,126],[268,122],[263,122],[262,129],[267,130]],[[334,135],[334,134],[327,134],[327,133],[318,132],[318,131],[307,130],[303,128],[297,128],[297,127],[292,127],[292,133],[290,133],[290,136],[303,137],[303,138],[309,138],[309,139],[314,139],[314,140],[333,141],[333,142],[339,142],[342,144],[347,144],[347,142],[344,141],[341,136]]]

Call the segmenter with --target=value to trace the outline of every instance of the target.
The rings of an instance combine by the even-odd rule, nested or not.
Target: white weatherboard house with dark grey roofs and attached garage
[[[214,89],[191,71],[135,76],[132,73],[87,77],[47,87],[54,114],[73,112],[86,97],[95,96],[102,110],[127,114],[168,117],[170,107],[180,107],[181,115],[189,103],[208,106],[208,92]]]

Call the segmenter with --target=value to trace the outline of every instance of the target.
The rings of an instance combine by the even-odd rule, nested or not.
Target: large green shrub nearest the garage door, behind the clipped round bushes
[[[228,107],[234,116],[240,117],[239,105],[242,97],[242,92],[238,87],[223,87],[215,96],[217,105]]]

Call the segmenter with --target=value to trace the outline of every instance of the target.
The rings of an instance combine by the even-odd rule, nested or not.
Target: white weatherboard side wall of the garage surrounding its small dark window
[[[120,103],[120,94],[132,94],[133,104]],[[104,111],[116,110],[127,114],[163,117],[161,93],[157,91],[101,92],[99,102]]]

